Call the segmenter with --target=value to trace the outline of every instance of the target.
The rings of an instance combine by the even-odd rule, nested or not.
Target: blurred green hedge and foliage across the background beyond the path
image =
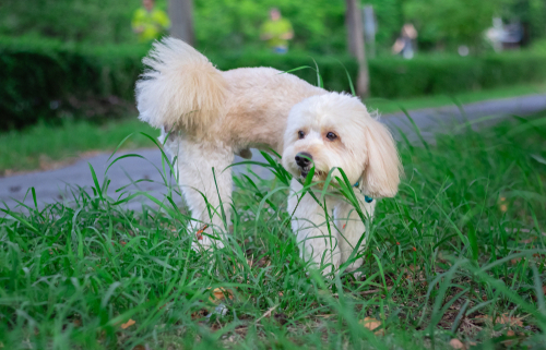
[[[542,0],[370,0],[378,20],[378,57],[369,60],[373,97],[454,94],[546,80],[546,3]],[[104,121],[134,112],[133,84],[149,46],[130,29],[140,0],[4,0],[0,3],[0,130],[38,120]],[[165,0],[157,7],[166,9]],[[295,27],[290,52],[263,51],[260,24],[271,7]],[[343,0],[195,0],[197,48],[219,69],[314,67],[324,86],[349,90],[357,65],[346,53]],[[494,15],[521,21],[521,52],[495,55],[483,39]],[[390,48],[406,22],[422,53],[404,61]],[[468,45],[471,56],[453,55]],[[316,83],[312,70],[295,74]]]

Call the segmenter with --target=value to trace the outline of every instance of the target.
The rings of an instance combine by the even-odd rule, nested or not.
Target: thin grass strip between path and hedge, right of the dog
[[[495,89],[466,92],[453,95],[435,95],[396,100],[371,97],[366,101],[366,105],[371,109],[379,110],[379,112],[381,113],[394,113],[400,112],[401,107],[404,107],[407,110],[420,108],[439,108],[446,106],[454,106],[455,104],[465,105],[488,99],[509,98],[545,93],[546,85],[544,84],[525,84],[509,87],[499,87]]]

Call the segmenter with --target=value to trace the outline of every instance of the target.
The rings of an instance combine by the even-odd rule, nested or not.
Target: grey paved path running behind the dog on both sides
[[[546,110],[546,95],[531,95],[476,102],[465,105],[463,109],[465,116],[456,107],[413,110],[410,114],[425,137],[427,137],[436,131],[452,130],[453,124],[460,124],[464,119],[479,121],[484,117],[498,116],[496,120],[499,120],[499,118],[510,114],[525,116]],[[410,138],[415,138],[413,128],[405,114],[394,113],[383,116],[381,121],[387,123],[395,133],[402,131]],[[139,154],[145,159],[128,157],[116,162],[107,173],[111,180],[108,194],[114,197],[116,195],[115,190],[130,184],[128,190],[147,191],[155,197],[162,198],[162,194],[166,192],[166,185],[164,184],[161,171],[155,168],[163,168],[159,150],[138,149],[131,153]],[[252,153],[252,160],[265,161],[259,152],[253,150]],[[35,188],[39,206],[57,201],[70,202],[72,198],[71,190],[78,186],[90,189],[94,185],[88,164],[95,169],[99,183],[103,183],[104,173],[108,166],[108,157],[109,154],[102,154],[87,159],[80,159],[62,169],[0,178],[0,207],[7,205],[13,209],[17,207],[17,202],[34,206],[32,194],[27,192],[31,186]],[[236,157],[236,161],[241,160],[241,158]],[[237,166],[234,169],[238,173],[246,171],[245,166]],[[252,170],[262,178],[271,176],[268,170],[261,167],[252,167]],[[139,179],[150,180],[151,182],[144,181],[131,184]],[[135,200],[128,207],[138,209],[141,207],[141,202]],[[22,208],[19,207],[17,209]]]

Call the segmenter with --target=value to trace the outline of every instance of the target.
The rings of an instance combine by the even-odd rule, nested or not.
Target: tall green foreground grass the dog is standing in
[[[4,210],[1,346],[544,349],[546,113],[535,117],[400,143],[406,177],[368,222],[359,279],[324,279],[300,260],[282,178],[236,178],[234,234],[203,254],[183,208],[127,210],[129,193],[107,182],[70,206]],[[233,292],[225,315],[215,288]]]

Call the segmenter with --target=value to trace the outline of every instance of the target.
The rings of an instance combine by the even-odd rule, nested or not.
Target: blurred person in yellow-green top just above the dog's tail
[[[142,8],[134,11],[131,26],[139,41],[149,43],[159,38],[169,28],[170,21],[165,11],[155,9],[154,0],[142,0]]]

